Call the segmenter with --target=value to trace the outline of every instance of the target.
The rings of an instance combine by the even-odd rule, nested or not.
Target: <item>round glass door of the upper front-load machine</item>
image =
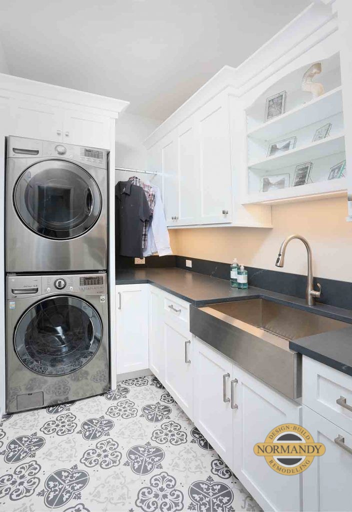
[[[43,160],[28,167],[14,191],[17,214],[33,231],[51,239],[79,237],[101,211],[95,180],[65,160]]]

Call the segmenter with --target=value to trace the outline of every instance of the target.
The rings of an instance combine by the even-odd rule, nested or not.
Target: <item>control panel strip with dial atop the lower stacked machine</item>
[[[107,292],[106,273],[8,275],[7,298],[28,298],[40,295],[104,295]]]

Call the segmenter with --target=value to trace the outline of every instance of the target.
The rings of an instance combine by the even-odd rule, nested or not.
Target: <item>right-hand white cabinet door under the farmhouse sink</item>
[[[300,424],[301,407],[234,365],[233,471],[265,510],[301,510],[302,475],[283,476],[254,454],[282,423]]]

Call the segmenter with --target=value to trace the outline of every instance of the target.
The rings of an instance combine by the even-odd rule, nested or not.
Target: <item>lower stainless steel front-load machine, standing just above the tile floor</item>
[[[106,273],[8,275],[8,413],[108,389]]]

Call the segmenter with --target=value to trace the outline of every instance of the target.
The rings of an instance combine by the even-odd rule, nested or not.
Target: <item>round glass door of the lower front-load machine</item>
[[[71,296],[48,297],[19,319],[14,335],[16,353],[27,368],[45,375],[66,375],[82,368],[102,339],[97,311]]]

